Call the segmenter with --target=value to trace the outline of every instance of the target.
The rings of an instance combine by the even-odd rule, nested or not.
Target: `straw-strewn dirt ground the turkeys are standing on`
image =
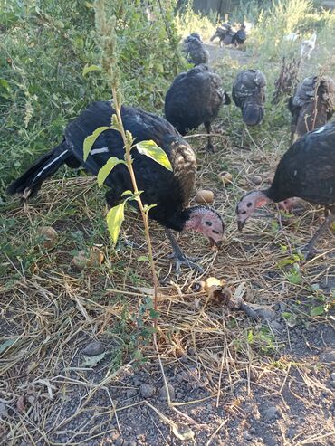
[[[226,51],[213,46],[211,58],[218,62]],[[244,53],[229,52],[244,63]],[[282,222],[269,208],[237,232],[236,200],[254,188],[252,176],[267,184],[284,143],[264,133],[255,144],[236,126],[228,137],[229,119],[215,124],[221,134],[215,156],[201,150],[205,140],[190,139],[199,160],[197,187],[215,192],[226,223],[219,253],[208,252],[196,235],[179,237],[188,254],[202,259],[203,277],[184,271],[166,280],[169,247],[152,224],[162,283],[157,343],[148,329],[150,279],[139,261],[145,247],[113,251],[108,236],[99,235],[94,242],[103,245],[105,264],[85,272],[71,263],[69,247],[77,246],[79,229],[86,240],[99,222],[105,232],[95,180],[53,179],[32,204],[7,212],[15,222],[7,236],[32,240],[34,249],[5,260],[0,288],[1,444],[334,444],[334,238],[329,232],[321,241],[325,255],[308,262],[294,257],[322,220],[307,204]],[[233,174],[231,185],[218,181],[222,170]],[[51,251],[36,251],[34,232],[46,223],[60,241]],[[131,212],[124,234],[143,243]],[[233,294],[247,289],[265,316],[250,318],[196,291],[196,282],[208,276],[225,279]],[[145,361],[133,355],[137,343]]]

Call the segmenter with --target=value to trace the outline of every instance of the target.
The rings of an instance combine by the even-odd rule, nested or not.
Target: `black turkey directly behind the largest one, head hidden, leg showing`
[[[187,72],[178,74],[168,89],[165,98],[165,117],[181,135],[205,125],[210,135],[211,122],[216,118],[222,104],[230,98],[222,90],[222,81],[208,65],[201,64]],[[213,151],[208,136],[207,150]]]

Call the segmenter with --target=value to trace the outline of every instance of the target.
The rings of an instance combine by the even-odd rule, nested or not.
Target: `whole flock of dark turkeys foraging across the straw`
[[[225,29],[225,36],[231,30]],[[231,43],[243,43],[246,38],[243,26]],[[220,38],[216,30],[215,37]],[[229,34],[230,35],[230,34]],[[235,35],[235,34],[234,34]],[[315,38],[310,43],[315,45]],[[293,36],[294,37],[294,36]],[[288,40],[293,40],[290,37]],[[311,46],[304,41],[303,47]],[[133,167],[143,204],[156,204],[149,217],[163,225],[172,244],[177,267],[186,264],[201,271],[180,250],[171,230],[193,230],[206,235],[211,245],[220,246],[225,224],[222,216],[207,205],[189,206],[196,182],[196,154],[187,140],[182,138],[189,130],[205,125],[207,150],[214,151],[211,140],[211,123],[222,105],[231,100],[222,88],[222,81],[208,65],[208,52],[198,33],[190,34],[184,43],[187,60],[195,66],[177,75],[165,100],[165,118],[142,109],[122,106],[124,128],[137,142],[153,140],[170,160],[173,171],[160,166],[137,150],[133,154]],[[304,50],[305,51],[305,50]],[[311,52],[304,52],[307,58]],[[266,79],[262,71],[244,70],[236,74],[232,98],[241,109],[245,125],[260,125],[264,117]],[[292,113],[292,139],[295,141],[278,164],[272,185],[244,195],[236,206],[237,225],[240,230],[254,213],[266,203],[280,203],[285,209],[292,207],[293,198],[300,197],[326,209],[326,219],[307,245],[307,256],[313,251],[317,238],[335,220],[335,121],[327,124],[335,107],[335,83],[328,76],[313,76],[298,85],[289,100]],[[115,113],[111,102],[98,101],[81,112],[65,129],[62,143],[47,152],[23,176],[8,187],[8,193],[19,193],[26,200],[34,195],[43,181],[52,176],[63,164],[83,166],[97,175],[110,157],[124,157],[123,140],[119,131],[108,129],[97,138],[87,159],[83,157],[83,141],[96,128],[110,126]],[[110,207],[119,204],[122,193],[132,189],[129,171],[119,164],[105,181],[108,186],[106,200]],[[131,202],[137,207],[136,202]]]

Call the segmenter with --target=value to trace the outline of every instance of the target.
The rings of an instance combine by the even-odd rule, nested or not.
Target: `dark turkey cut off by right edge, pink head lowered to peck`
[[[335,122],[306,133],[283,155],[269,189],[249,192],[236,207],[240,230],[257,207],[300,197],[325,206],[326,217],[307,245],[307,258],[322,232],[335,221]]]

